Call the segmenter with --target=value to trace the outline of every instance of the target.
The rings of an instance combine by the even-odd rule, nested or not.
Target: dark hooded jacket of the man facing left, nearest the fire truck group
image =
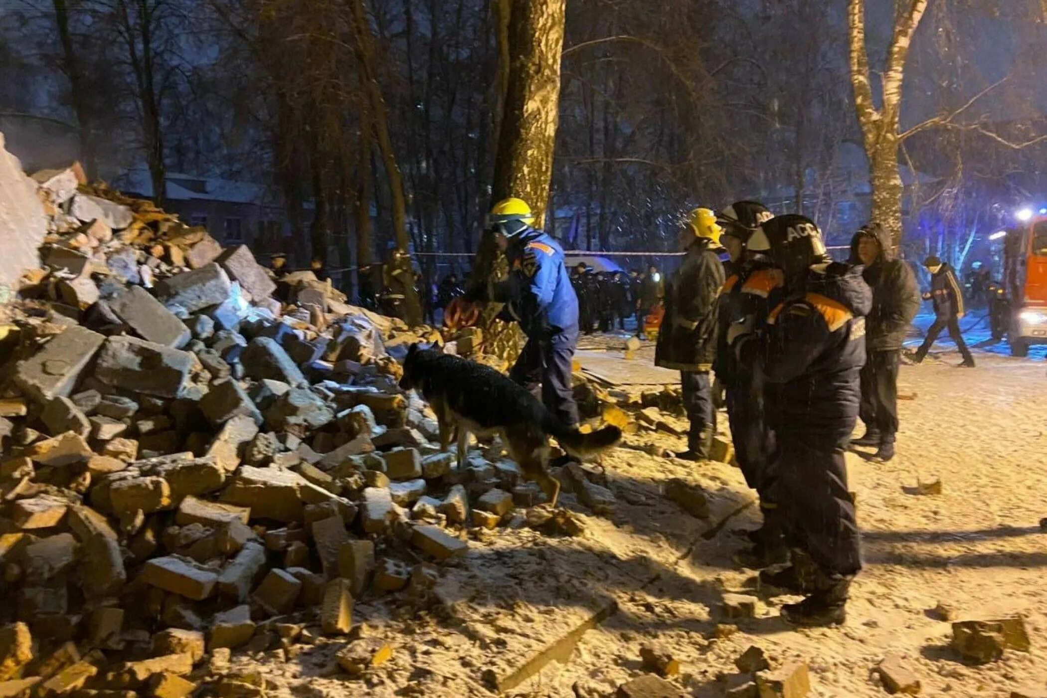
[[[872,310],[866,318],[866,347],[870,352],[895,352],[909,333],[916,313],[919,312],[919,286],[916,275],[891,249],[891,234],[883,226],[873,225],[879,244],[879,256],[862,272],[865,283],[872,289]],[[851,239],[851,264],[861,264],[857,241],[866,233],[859,232]]]

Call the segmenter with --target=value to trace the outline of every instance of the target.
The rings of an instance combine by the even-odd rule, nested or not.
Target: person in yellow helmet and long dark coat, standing
[[[691,422],[682,460],[708,460],[716,433],[709,371],[716,357],[716,337],[723,265],[716,215],[695,208],[681,231],[685,255],[665,294],[665,315],[659,328],[654,364],[680,370],[684,408]]]

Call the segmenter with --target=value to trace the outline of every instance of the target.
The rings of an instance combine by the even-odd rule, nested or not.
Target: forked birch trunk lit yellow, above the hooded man
[[[898,147],[901,143],[901,87],[913,35],[927,13],[928,0],[897,0],[894,28],[882,71],[882,97],[877,108],[873,98],[869,51],[865,35],[865,0],[850,0],[850,71],[854,90],[854,109],[862,129],[862,139],[869,159],[869,183],[872,186],[872,219],[886,227],[895,246],[901,240],[901,197],[904,186],[898,172]]]

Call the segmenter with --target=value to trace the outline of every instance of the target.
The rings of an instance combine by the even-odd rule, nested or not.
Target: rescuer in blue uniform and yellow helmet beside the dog
[[[495,300],[518,321],[528,337],[509,377],[528,388],[541,383],[542,403],[565,424],[578,424],[571,366],[578,344],[578,297],[563,264],[563,249],[531,227],[534,215],[520,199],[506,199],[491,210],[488,224],[507,241],[509,280]]]

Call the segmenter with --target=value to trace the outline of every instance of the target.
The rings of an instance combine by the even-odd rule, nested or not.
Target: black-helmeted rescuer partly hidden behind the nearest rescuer
[[[761,331],[771,309],[781,300],[780,274],[775,273],[771,244],[760,229],[760,224],[771,218],[766,206],[755,201],[734,203],[717,218],[723,228],[720,242],[733,273],[720,292],[719,340],[713,369],[725,388],[735,458],[745,482],[760,496],[763,524],[748,534],[754,543],[752,554],[739,558],[752,567],[784,562],[787,550],[776,518],[774,474],[768,467],[774,433],[764,419],[763,381],[758,371],[740,369],[729,343]]]

